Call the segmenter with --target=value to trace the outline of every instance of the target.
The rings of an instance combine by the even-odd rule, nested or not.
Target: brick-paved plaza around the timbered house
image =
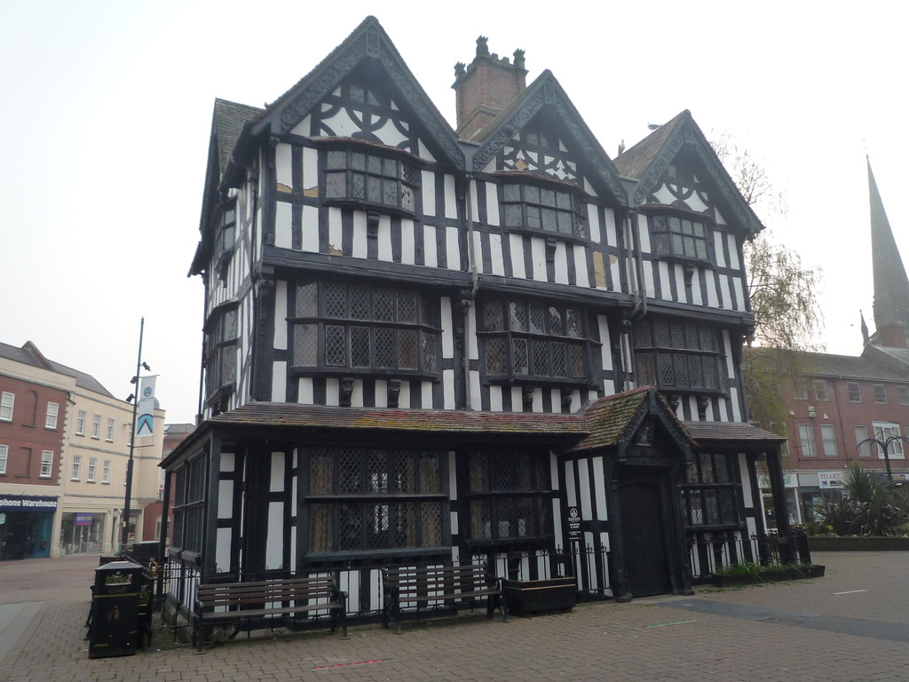
[[[96,557],[0,563],[0,679],[909,680],[909,553],[817,553],[814,580],[694,597],[584,604],[572,613],[405,622],[254,637],[199,655],[164,645],[89,659],[83,623]]]

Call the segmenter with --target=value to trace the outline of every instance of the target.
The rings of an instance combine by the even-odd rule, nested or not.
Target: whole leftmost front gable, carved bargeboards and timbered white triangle
[[[451,126],[416,82],[385,30],[370,16],[309,75],[269,105],[251,126],[250,135],[349,133],[400,146],[415,144],[411,132],[415,124],[433,156],[464,168],[464,155]]]

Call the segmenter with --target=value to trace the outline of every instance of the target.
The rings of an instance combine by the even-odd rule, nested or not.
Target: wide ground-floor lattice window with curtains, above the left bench
[[[445,455],[325,448],[309,452],[309,553],[447,547]]]

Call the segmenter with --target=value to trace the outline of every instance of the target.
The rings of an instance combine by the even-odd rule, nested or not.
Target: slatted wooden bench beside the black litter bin
[[[195,642],[202,651],[205,627],[234,624],[233,638],[247,630],[274,627],[307,611],[330,611],[332,632],[341,621],[347,638],[347,593],[331,577],[289,577],[243,583],[206,583],[195,600]]]

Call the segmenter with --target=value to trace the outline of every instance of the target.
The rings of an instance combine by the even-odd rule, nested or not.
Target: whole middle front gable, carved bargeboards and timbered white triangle
[[[475,171],[549,176],[628,205],[612,162],[549,71],[485,126],[473,161]]]

